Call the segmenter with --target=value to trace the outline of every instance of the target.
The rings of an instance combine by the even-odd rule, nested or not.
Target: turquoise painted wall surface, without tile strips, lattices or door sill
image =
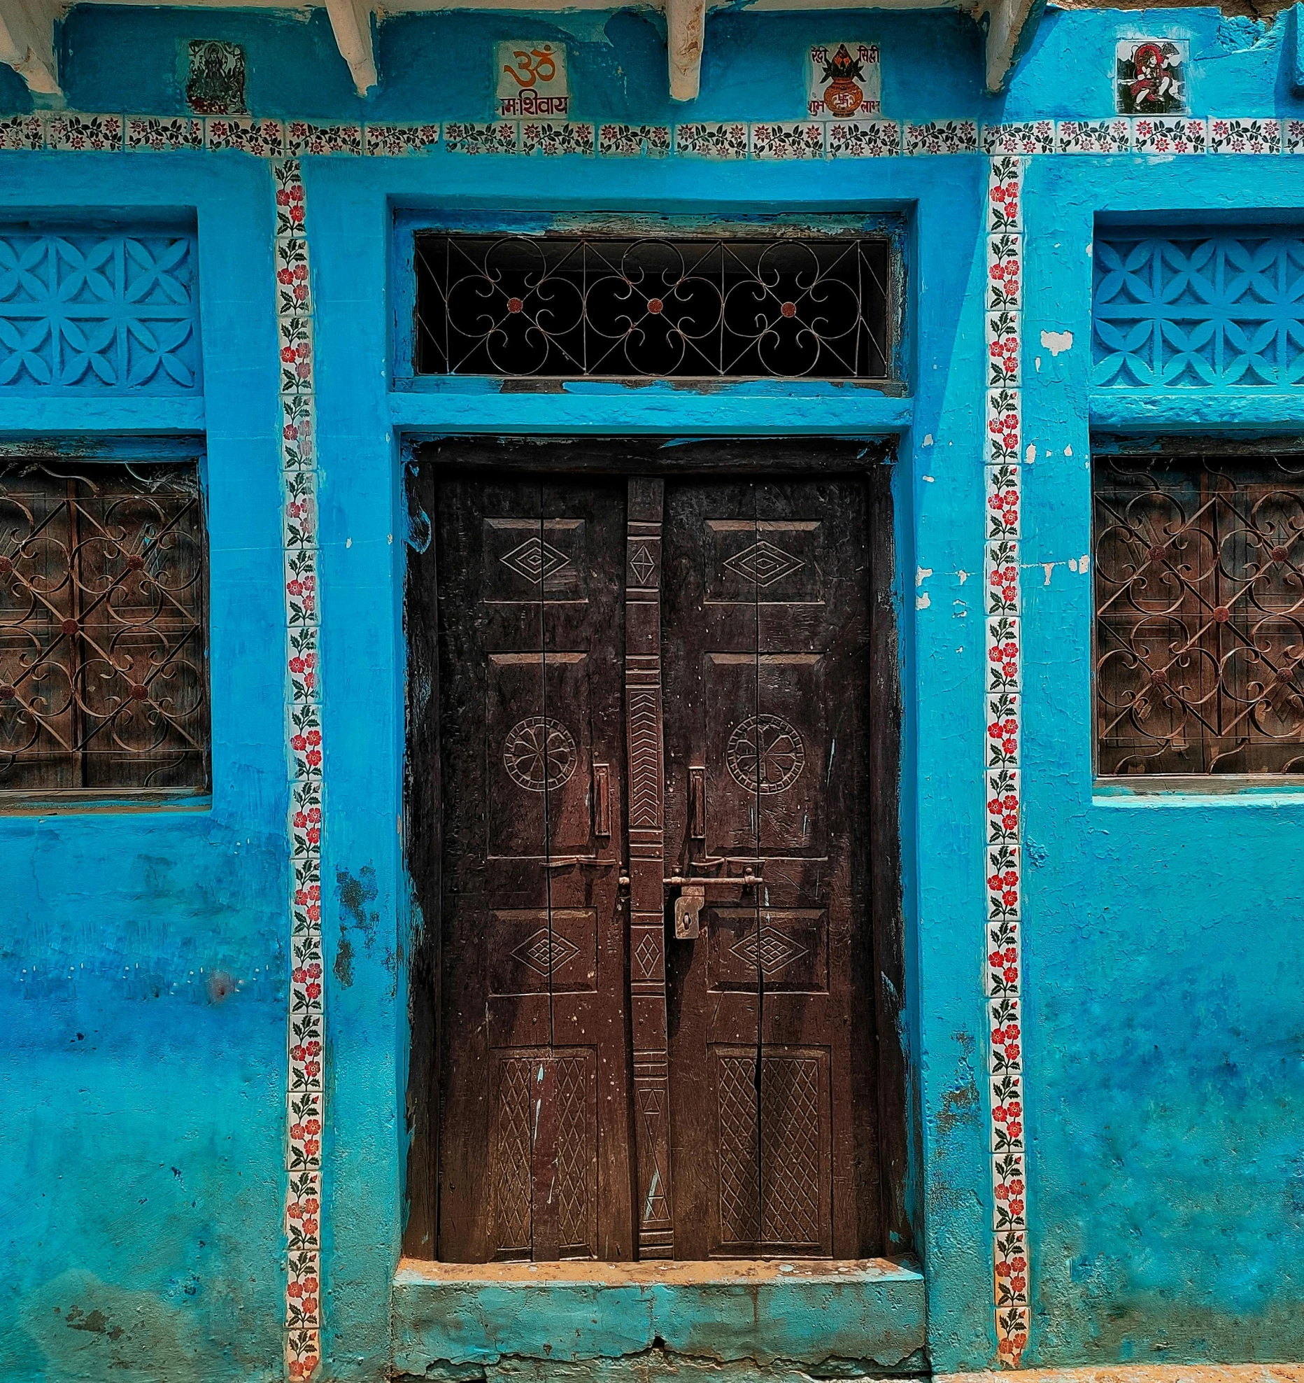
[[[75,10],[69,106],[178,112],[177,41],[250,55],[256,113],[483,119],[488,43],[571,46],[578,119],[797,118],[801,53],[877,39],[899,119],[1110,113],[1116,36],[1191,40],[1195,113],[1304,116],[1293,19],[1050,12],[1009,91],[980,93],[951,15],[711,17],[702,95],[665,100],[633,11],[407,17],[379,29],[379,94],[348,86],[325,15]],[[0,68],[0,109],[25,111]],[[899,433],[906,902],[914,1170],[939,1369],[994,1358],[980,848],[983,644],[978,156],[817,165],[307,160],[321,436],[328,949],[326,1376],[379,1379],[402,1220],[411,949],[398,830],[405,434],[452,430]],[[281,1375],[288,916],[277,342],[267,166],[223,154],[0,154],[0,213],[198,227],[203,409],[0,387],[0,433],[202,433],[212,531],[213,804],[0,820],[0,1377]],[[910,219],[909,400],[812,384],[705,396],[391,394],[395,209],[689,214],[899,209]],[[1029,1364],[1304,1358],[1298,1116],[1304,798],[1092,794],[1091,418],[1153,430],[1088,387],[1092,219],[1304,214],[1304,160],[1034,159],[1026,181],[1025,1051],[1034,1325]],[[1070,350],[1041,349],[1072,331]],[[1170,429],[1304,433],[1293,397],[1203,396]],[[1051,564],[1048,574],[1041,566]],[[915,610],[915,568],[928,568]],[[964,573],[965,575],[961,575]],[[214,971],[238,981],[210,985]]]

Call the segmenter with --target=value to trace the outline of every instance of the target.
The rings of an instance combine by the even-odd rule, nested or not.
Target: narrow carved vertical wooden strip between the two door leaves
[[[662,884],[662,481],[629,481],[625,538],[625,705],[629,743],[629,972],[640,1259],[675,1256]]]

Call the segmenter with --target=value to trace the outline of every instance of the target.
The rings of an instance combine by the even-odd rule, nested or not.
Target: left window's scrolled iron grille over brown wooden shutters
[[[202,790],[195,465],[0,462],[0,790]]]

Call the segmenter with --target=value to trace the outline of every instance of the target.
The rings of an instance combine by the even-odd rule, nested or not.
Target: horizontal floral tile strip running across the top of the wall
[[[0,151],[235,149],[259,158],[404,158],[516,154],[578,158],[870,159],[983,152],[1043,154],[1304,154],[1304,120],[1260,116],[1108,116],[1098,120],[744,120],[690,124],[590,124],[582,120],[445,120],[355,124],[250,116],[0,116]]]

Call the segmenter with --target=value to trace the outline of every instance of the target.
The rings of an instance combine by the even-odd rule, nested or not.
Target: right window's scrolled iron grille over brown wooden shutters
[[[1097,772],[1304,773],[1304,456],[1094,466]]]

